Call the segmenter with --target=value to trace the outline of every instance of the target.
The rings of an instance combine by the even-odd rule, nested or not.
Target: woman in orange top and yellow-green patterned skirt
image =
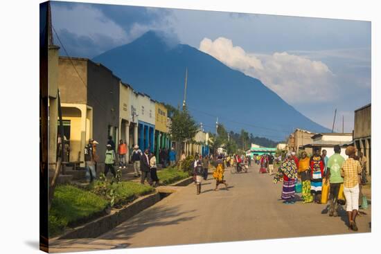
[[[303,199],[303,203],[310,203],[312,202],[310,158],[308,158],[307,153],[304,151],[301,153],[301,159],[299,160],[298,174],[301,178],[301,197]]]

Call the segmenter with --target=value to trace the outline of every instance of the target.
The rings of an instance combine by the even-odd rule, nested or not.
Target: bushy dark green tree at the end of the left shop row
[[[184,150],[184,142],[193,140],[198,130],[195,120],[190,116],[186,107],[182,111],[176,109],[173,112],[170,135],[180,144],[180,151]]]

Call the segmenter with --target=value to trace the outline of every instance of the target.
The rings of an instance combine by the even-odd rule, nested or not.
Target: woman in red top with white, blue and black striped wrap
[[[310,168],[313,201],[314,203],[321,203],[321,183],[324,177],[324,162],[318,148],[314,150],[314,155],[310,158]]]

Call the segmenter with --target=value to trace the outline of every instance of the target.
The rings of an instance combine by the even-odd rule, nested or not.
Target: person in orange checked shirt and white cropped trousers
[[[344,196],[346,199],[346,212],[349,228],[357,231],[356,216],[359,210],[359,177],[361,174],[360,161],[355,161],[356,148],[353,145],[346,147],[345,154],[348,159],[342,165],[342,176],[344,177]]]

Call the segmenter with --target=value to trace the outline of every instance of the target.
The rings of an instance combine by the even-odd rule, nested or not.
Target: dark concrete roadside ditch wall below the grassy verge
[[[51,243],[55,239],[96,238],[159,201],[159,192],[139,197],[119,210],[112,210],[110,215],[105,215],[104,217],[90,221],[85,225],[73,228],[72,230],[69,230],[69,232],[64,233],[64,235],[51,239],[49,242]]]

